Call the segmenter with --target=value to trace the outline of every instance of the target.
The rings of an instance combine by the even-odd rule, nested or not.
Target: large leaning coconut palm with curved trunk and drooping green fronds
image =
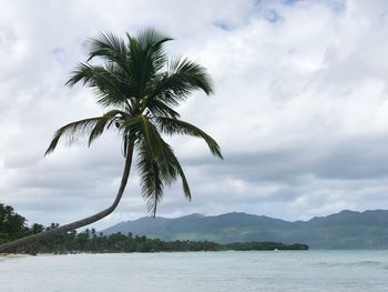
[[[53,152],[61,140],[74,142],[89,137],[89,145],[105,130],[116,130],[122,137],[124,170],[114,202],[105,210],[82,220],[0,245],[12,250],[32,241],[48,239],[91,224],[109,215],[118,207],[130,175],[133,157],[140,174],[143,198],[153,215],[163,197],[164,185],[182,180],[184,195],[191,191],[183,169],[163,134],[187,134],[202,138],[212,154],[222,159],[218,144],[197,127],[180,119],[175,108],[195,90],[213,92],[206,70],[185,58],[169,59],[164,44],[171,41],[154,29],[126,39],[101,33],[90,40],[89,59],[80,63],[67,82],[90,87],[96,102],[108,111],[101,117],[71,122],[60,128],[45,151]],[[102,64],[90,61],[99,59]]]

